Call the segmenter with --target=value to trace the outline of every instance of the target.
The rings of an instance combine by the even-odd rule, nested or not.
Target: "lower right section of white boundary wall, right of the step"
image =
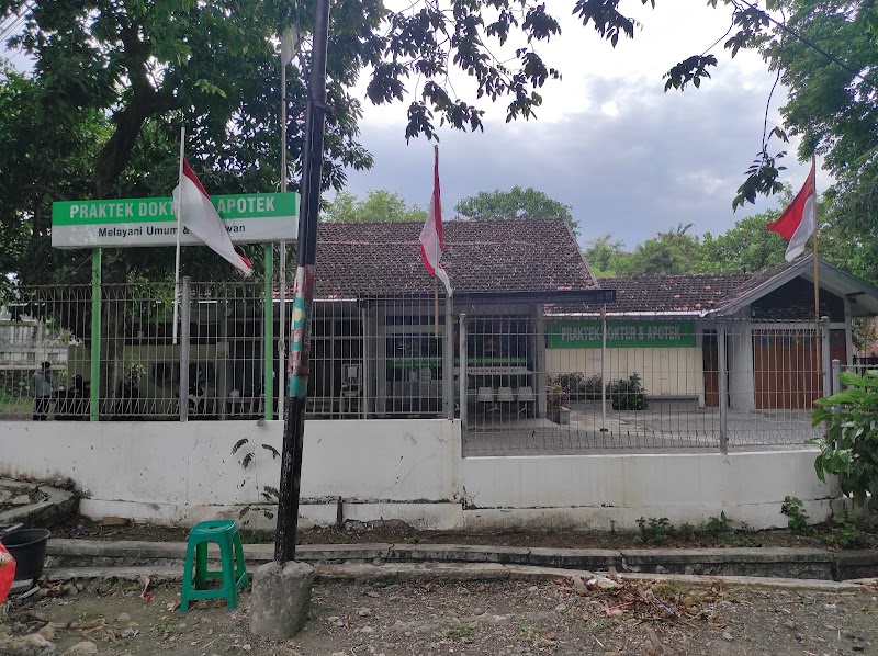
[[[815,449],[476,457],[461,465],[466,528],[637,528],[640,517],[695,525],[720,512],[755,529],[786,527],[785,496],[814,521],[831,512],[834,483],[814,474]]]

